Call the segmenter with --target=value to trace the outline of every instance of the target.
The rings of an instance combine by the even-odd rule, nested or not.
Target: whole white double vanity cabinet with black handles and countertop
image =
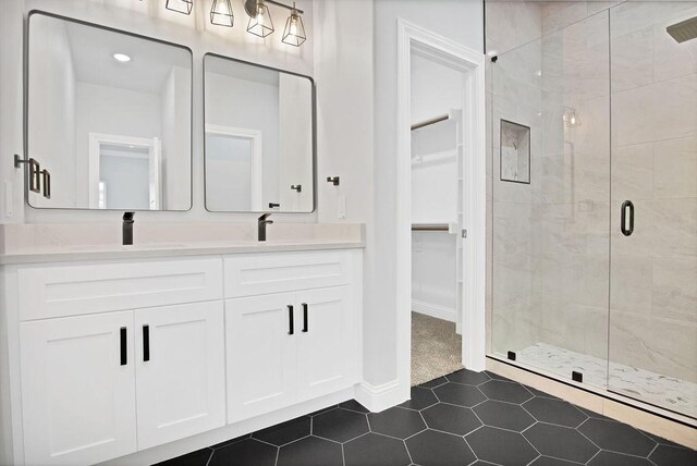
[[[99,463],[352,389],[362,247],[1,256],[12,462]]]

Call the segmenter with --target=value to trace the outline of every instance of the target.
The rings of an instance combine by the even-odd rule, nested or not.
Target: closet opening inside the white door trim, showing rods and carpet
[[[412,385],[462,369],[460,70],[412,51]],[[457,324],[460,322],[460,326]]]

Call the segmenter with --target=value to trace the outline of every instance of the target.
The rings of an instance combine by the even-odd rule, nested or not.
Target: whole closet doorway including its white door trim
[[[398,46],[398,379],[406,391],[485,368],[485,60],[403,20]]]

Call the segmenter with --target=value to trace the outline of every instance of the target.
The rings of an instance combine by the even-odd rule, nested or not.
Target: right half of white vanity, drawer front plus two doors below
[[[359,253],[250,259],[225,259],[229,421],[359,381]]]

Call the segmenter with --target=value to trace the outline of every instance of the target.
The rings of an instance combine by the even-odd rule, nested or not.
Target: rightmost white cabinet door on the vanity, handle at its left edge
[[[297,293],[297,326],[301,329],[297,338],[297,373],[298,391],[304,400],[356,382],[358,309],[353,305],[351,290],[348,286],[339,286]]]

